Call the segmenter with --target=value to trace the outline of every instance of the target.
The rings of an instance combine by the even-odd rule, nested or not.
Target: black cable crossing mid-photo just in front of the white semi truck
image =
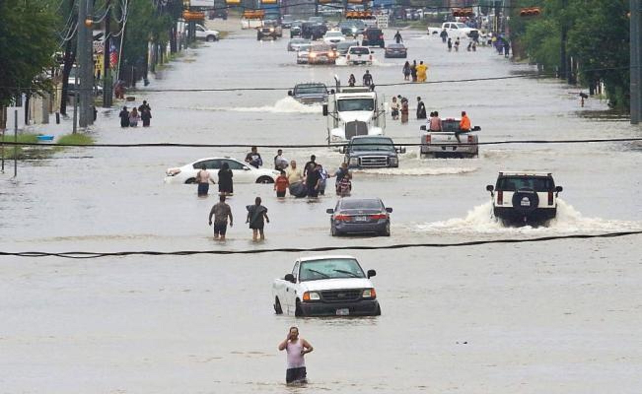
[[[461,134],[460,134],[461,135]],[[464,133],[465,135],[465,133]],[[512,141],[485,141],[485,142],[467,142],[462,141],[460,145],[466,146],[480,146],[480,145],[508,145],[508,144],[593,144],[604,142],[637,142],[642,141],[639,138],[607,138],[607,139],[562,139],[562,140],[512,140]],[[343,144],[187,144],[180,142],[145,142],[141,144],[59,144],[51,143],[46,144],[42,142],[3,142],[6,146],[67,146],[76,148],[338,148],[340,146],[347,146],[347,142]],[[368,146],[368,143],[354,142],[353,146],[363,145]],[[421,142],[408,142],[397,144],[399,146],[423,146]]]

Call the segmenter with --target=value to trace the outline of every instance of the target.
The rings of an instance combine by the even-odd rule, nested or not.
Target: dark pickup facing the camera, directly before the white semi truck
[[[349,168],[384,168],[399,167],[397,153],[405,153],[406,148],[397,148],[383,135],[357,135],[340,151]]]

